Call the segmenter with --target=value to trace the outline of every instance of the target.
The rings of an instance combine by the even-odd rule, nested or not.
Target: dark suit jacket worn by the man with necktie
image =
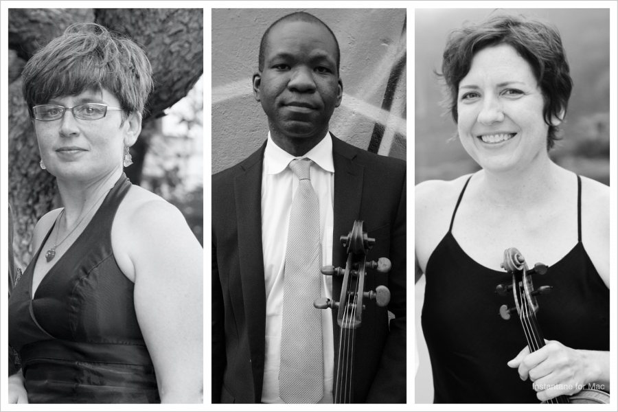
[[[212,176],[212,402],[259,403],[264,376],[266,291],[261,187],[266,144]],[[354,402],[406,401],[406,163],[333,138],[333,264],[345,267],[339,237],[364,220],[376,245],[368,259],[391,259],[390,273],[368,271],[365,290],[385,285],[388,310],[366,305],[356,332]],[[334,277],[334,297],[341,293]],[[316,309],[317,310],[317,309]],[[328,310],[328,309],[327,309]],[[335,370],[339,325],[333,311]]]

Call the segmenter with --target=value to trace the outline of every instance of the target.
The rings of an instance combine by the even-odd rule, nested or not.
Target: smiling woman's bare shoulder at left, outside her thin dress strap
[[[414,236],[417,264],[424,272],[431,253],[448,232],[450,218],[468,177],[452,181],[431,180],[414,188]]]

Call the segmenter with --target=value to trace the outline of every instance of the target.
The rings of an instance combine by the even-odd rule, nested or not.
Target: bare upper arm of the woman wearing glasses
[[[162,403],[203,402],[203,249],[176,207],[133,214],[135,312]]]

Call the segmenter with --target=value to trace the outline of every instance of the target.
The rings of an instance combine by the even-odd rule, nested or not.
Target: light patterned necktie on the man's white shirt
[[[320,211],[309,159],[290,169],[299,179],[292,201],[284,279],[279,396],[286,403],[315,403],[324,391],[320,297]]]

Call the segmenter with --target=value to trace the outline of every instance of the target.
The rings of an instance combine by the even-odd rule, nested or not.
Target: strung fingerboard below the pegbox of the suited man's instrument
[[[352,376],[354,371],[354,341],[356,329],[341,328],[339,333],[339,353],[337,354],[334,377],[333,403],[353,403]]]

